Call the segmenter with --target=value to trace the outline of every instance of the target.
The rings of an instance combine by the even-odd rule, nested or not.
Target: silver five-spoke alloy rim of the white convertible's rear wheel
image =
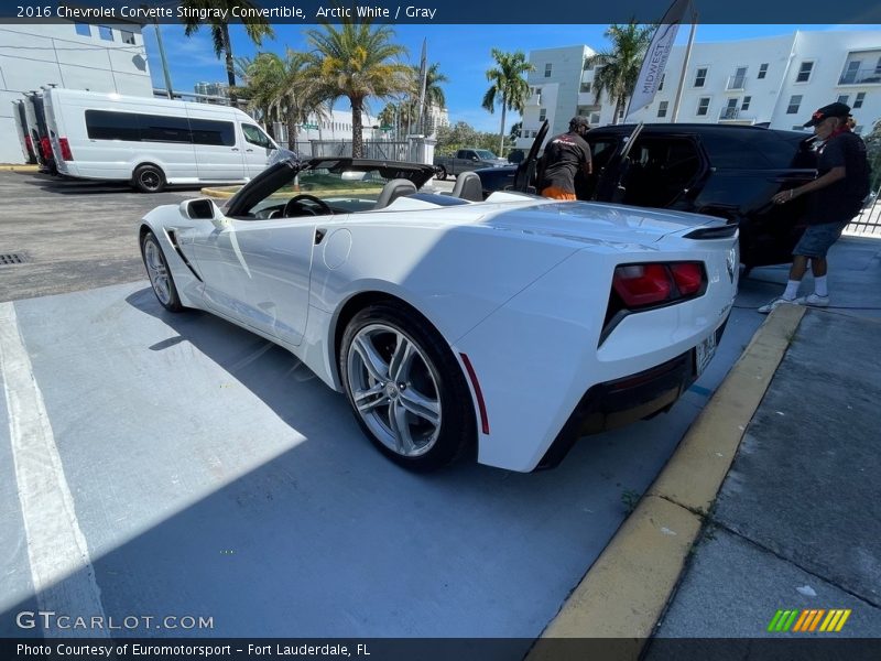
[[[440,433],[438,375],[418,345],[398,328],[361,328],[346,360],[351,399],[361,420],[389,449],[427,453]]]

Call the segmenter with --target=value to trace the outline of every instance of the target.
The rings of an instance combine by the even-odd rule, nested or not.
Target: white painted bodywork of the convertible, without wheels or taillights
[[[485,433],[477,416],[478,460],[512,470],[539,465],[591,387],[693,351],[717,333],[737,290],[736,234],[684,238],[720,221],[674,212],[502,193],[457,206],[404,197],[376,212],[230,218],[217,229],[184,206],[143,219],[184,305],[280,344],[341,390],[336,337],[345,306],[363,294],[405,302],[457,360],[468,356],[489,426]],[[653,261],[704,262],[706,290],[631,313],[601,338],[616,266]],[[470,387],[467,405],[477,411]]]

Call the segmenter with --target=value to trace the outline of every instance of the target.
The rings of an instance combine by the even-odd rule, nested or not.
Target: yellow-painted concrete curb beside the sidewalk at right
[[[616,658],[639,658],[804,314],[781,305],[768,316],[527,659],[551,659],[552,638],[628,639]]]

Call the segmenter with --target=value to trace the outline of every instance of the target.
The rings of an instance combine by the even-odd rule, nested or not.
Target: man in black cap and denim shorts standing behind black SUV
[[[804,126],[814,127],[814,134],[822,141],[817,178],[797,188],[781,191],[772,197],[774,204],[786,204],[800,195],[811,194],[805,218],[807,228],[792,251],[786,289],[781,296],[759,308],[763,314],[785,303],[820,307],[829,304],[826,252],[848,223],[860,213],[862,201],[869,194],[866,144],[850,131],[849,115],[850,108],[845,104],[829,104],[814,112]],[[814,293],[797,297],[808,260],[814,274]]]

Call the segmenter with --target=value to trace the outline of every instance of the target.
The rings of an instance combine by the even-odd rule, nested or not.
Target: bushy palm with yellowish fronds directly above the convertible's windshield
[[[389,25],[371,29],[369,21],[344,20],[339,26],[306,31],[314,51],[307,54],[306,76],[319,98],[347,97],[351,102],[351,153],[363,153],[361,134],[365,102],[369,97],[389,98],[412,91],[411,68],[396,61],[406,48],[391,42]]]

